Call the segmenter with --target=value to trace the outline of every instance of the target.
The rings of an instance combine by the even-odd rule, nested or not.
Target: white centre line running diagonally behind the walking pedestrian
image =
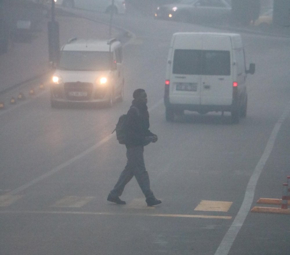
[[[160,99],[155,105],[153,105],[151,108],[148,109],[149,112],[151,112],[152,110],[154,110],[155,108],[157,108],[161,103],[163,102],[163,99]],[[107,141],[109,141],[112,137],[115,137],[115,134],[110,134],[108,136],[106,136],[103,140],[99,141],[98,143],[96,143],[95,145],[93,145],[92,147],[88,148],[87,150],[85,150],[84,152],[82,152],[81,154],[69,159],[68,161],[62,163],[61,165],[53,168],[52,170],[46,172],[45,174],[33,179],[32,181],[6,193],[6,195],[16,195],[17,193],[26,190],[27,188],[31,187],[32,185],[35,185],[36,183],[39,183],[40,181],[44,180],[46,177],[51,176],[52,174],[55,174],[57,172],[59,172],[60,170],[64,169],[65,167],[69,166],[70,164],[74,163],[75,161],[81,159],[82,157],[86,156],[87,154],[89,154],[90,152],[96,150],[98,147],[100,147],[101,145],[103,145],[104,143],[106,143]]]

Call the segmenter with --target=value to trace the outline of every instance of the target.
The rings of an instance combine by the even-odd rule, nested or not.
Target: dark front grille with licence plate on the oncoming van
[[[89,100],[93,92],[93,83],[89,82],[66,82],[64,83],[64,93],[71,101]]]

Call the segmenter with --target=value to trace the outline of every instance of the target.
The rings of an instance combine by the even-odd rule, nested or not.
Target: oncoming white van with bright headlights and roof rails
[[[50,103],[106,103],[124,96],[122,46],[108,41],[73,38],[60,51],[52,76]]]

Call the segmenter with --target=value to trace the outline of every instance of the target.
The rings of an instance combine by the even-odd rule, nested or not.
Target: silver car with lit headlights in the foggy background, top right
[[[187,23],[224,23],[231,17],[229,0],[182,0],[177,3],[160,5],[155,18]]]

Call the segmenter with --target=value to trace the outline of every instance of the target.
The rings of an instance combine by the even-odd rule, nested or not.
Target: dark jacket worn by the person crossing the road
[[[133,107],[134,106],[134,107]],[[138,110],[136,108],[138,108]],[[146,136],[154,136],[149,130],[149,112],[145,103],[132,101],[127,113],[126,147],[145,146]]]

